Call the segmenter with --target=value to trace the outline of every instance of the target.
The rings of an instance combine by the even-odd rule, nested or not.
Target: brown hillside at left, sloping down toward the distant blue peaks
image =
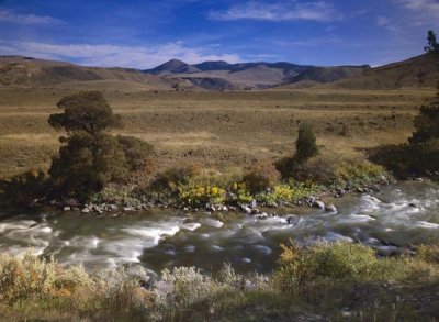
[[[127,85],[137,84],[145,88],[169,88],[169,85],[161,78],[136,69],[83,67],[32,57],[0,56],[0,86],[2,87],[99,84],[109,80],[127,82]]]

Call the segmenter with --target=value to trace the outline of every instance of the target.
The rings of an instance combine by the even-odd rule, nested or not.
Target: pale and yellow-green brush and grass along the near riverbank
[[[26,255],[0,258],[0,319],[8,321],[435,321],[438,247],[378,258],[360,244],[285,246],[271,276],[164,270],[142,287],[124,269],[90,275],[80,266]],[[145,285],[144,285],[145,286]]]

